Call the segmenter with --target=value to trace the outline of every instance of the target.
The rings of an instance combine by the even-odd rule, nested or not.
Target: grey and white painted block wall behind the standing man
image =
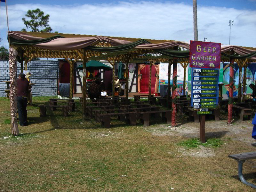
[[[32,96],[57,95],[57,73],[59,61],[33,60],[27,64],[27,70],[33,73],[30,77]],[[20,73],[21,64],[17,63],[17,76]],[[25,70],[25,64],[24,64]],[[18,77],[17,77],[18,78]],[[0,97],[6,97],[4,90],[7,88],[3,81],[10,81],[9,61],[0,60]]]

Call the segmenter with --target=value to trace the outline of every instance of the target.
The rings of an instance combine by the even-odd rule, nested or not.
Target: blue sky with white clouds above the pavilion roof
[[[35,3],[36,2],[36,3]],[[193,0],[7,0],[10,30],[25,25],[28,9],[50,15],[49,24],[60,33],[122,36],[189,41],[193,34]],[[198,37],[203,41],[255,47],[256,0],[197,0]],[[0,9],[0,46],[8,47],[5,4]],[[30,29],[27,29],[28,31]]]

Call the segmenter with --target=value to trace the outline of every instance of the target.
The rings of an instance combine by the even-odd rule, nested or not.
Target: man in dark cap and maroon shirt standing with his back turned
[[[19,113],[20,126],[28,125],[27,121],[27,96],[28,96],[28,79],[25,79],[25,74],[20,73],[17,79],[17,108]]]

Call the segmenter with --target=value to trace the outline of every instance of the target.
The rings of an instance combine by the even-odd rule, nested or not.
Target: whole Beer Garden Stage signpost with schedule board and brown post
[[[191,103],[200,115],[200,142],[204,143],[205,114],[219,99],[220,43],[190,41]]]

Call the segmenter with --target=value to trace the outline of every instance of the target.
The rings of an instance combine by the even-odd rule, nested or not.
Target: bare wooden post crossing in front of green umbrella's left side
[[[83,49],[83,118],[86,120],[86,70],[85,65],[87,62],[87,53],[88,50],[85,51]]]

